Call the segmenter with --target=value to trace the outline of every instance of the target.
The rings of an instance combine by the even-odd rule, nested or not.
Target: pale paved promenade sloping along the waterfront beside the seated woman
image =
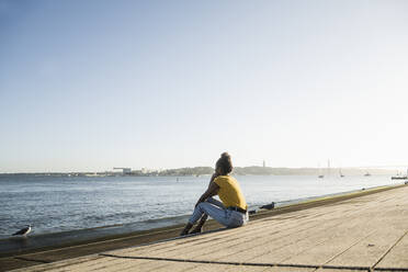
[[[408,271],[408,185],[16,271]]]

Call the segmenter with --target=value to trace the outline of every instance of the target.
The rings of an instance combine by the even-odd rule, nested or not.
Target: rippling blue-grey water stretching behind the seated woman
[[[256,208],[362,188],[395,184],[389,175],[242,175]],[[128,225],[133,230],[185,223],[209,177],[0,175],[0,239],[33,225],[33,234]]]

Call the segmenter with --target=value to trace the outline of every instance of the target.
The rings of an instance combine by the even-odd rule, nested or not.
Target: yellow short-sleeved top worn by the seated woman
[[[218,196],[226,207],[247,209],[247,202],[241,193],[238,181],[229,175],[218,175],[214,182],[219,186]]]

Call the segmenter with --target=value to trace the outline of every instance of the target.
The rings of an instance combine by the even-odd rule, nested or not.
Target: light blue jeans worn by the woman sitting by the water
[[[196,205],[189,223],[194,225],[204,214],[229,228],[240,227],[248,222],[248,213],[227,209],[223,203],[213,197]]]

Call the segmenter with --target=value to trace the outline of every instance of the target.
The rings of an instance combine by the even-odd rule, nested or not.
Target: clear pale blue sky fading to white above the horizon
[[[407,14],[0,0],[0,172],[408,165]]]

